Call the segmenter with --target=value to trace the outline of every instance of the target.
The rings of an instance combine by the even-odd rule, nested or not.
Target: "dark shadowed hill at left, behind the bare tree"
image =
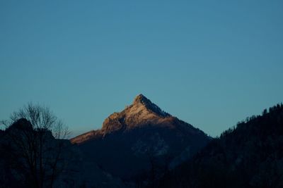
[[[40,146],[41,145],[41,146]],[[125,187],[68,139],[35,129],[25,118],[0,130],[0,187]]]

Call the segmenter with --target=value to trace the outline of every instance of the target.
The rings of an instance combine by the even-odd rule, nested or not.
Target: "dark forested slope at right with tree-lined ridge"
[[[247,118],[166,173],[159,187],[283,187],[283,105]]]

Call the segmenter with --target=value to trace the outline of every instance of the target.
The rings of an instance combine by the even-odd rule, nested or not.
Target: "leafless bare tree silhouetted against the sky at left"
[[[16,175],[29,187],[53,187],[66,165],[67,127],[49,108],[31,103],[1,123]]]

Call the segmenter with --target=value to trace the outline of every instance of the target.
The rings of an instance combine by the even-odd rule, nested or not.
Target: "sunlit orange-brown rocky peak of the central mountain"
[[[72,139],[73,143],[83,143],[93,138],[108,137],[114,134],[126,134],[127,132],[144,130],[168,130],[181,131],[180,134],[203,134],[192,125],[173,117],[171,114],[161,110],[156,104],[152,103],[143,94],[134,97],[131,105],[126,106],[123,111],[112,113],[105,118],[100,130],[86,132]],[[151,134],[151,132],[149,132]],[[159,134],[159,133],[156,133]],[[155,137],[156,135],[154,135]],[[206,137],[204,135],[204,137]],[[158,138],[158,136],[156,136]],[[141,143],[138,143],[141,144]],[[162,145],[162,143],[161,143]]]

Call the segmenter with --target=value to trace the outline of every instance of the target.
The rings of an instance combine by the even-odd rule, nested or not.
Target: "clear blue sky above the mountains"
[[[283,1],[0,1],[0,119],[74,134],[139,93],[212,136],[283,101]]]

